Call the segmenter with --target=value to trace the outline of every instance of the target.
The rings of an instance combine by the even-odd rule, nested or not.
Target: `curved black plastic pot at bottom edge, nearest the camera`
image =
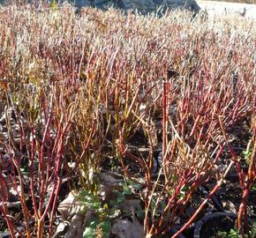
[[[211,229],[230,230],[235,225],[237,215],[231,212],[215,212],[200,219],[194,229],[194,238],[208,238]]]

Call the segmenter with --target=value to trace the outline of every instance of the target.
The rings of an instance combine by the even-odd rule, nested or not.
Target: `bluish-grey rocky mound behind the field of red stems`
[[[199,5],[195,0],[75,0],[75,7],[96,7],[99,9],[114,8],[127,10],[138,10],[142,14],[156,11],[162,7],[162,13],[167,9],[187,9],[200,11]]]

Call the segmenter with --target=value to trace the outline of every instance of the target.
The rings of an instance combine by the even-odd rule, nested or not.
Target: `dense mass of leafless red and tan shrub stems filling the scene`
[[[62,182],[79,174],[96,192],[109,153],[145,188],[147,237],[167,234],[195,190],[214,177],[214,190],[177,237],[233,165],[243,189],[238,228],[246,233],[255,183],[253,20],[192,18],[186,11],[157,19],[90,8],[76,15],[68,5],[40,11],[10,6],[0,8],[0,16],[0,211],[13,237],[20,226],[26,237],[51,236]],[[230,139],[245,121],[252,121],[246,172]],[[147,140],[143,156],[129,145],[138,131]],[[227,168],[219,172],[226,147]],[[155,171],[159,148],[162,163]],[[20,221],[9,215],[11,188],[24,213]]]

